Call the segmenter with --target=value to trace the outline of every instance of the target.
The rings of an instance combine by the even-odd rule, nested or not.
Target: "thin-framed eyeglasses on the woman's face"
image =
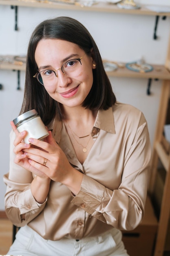
[[[61,70],[63,74],[70,77],[76,77],[81,72],[81,58],[74,58],[66,61],[61,68],[57,70],[46,69],[38,71],[33,77],[35,77],[42,85],[53,86],[56,82],[56,77],[58,77],[56,71]]]

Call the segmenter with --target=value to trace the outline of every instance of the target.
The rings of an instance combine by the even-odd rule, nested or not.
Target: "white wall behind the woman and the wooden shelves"
[[[169,0],[140,0],[140,3],[168,5]],[[170,6],[170,4],[169,4]],[[14,10],[0,6],[0,55],[26,54],[29,37],[38,23],[46,18],[71,16],[82,22],[94,37],[102,58],[113,61],[134,61],[141,56],[148,63],[164,64],[168,46],[170,18],[159,21],[158,40],[153,40],[154,16],[96,13],[56,9],[18,8],[19,31],[14,30]],[[9,121],[18,116],[22,104],[24,72],[21,90],[17,88],[17,72],[0,70],[0,210],[4,210],[3,174],[9,170]],[[148,121],[151,143],[155,132],[161,81],[153,81],[152,95],[146,95],[147,79],[110,78],[117,100],[130,103],[144,112]]]

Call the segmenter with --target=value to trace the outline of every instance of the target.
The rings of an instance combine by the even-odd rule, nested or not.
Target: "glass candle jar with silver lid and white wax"
[[[44,139],[49,135],[44,123],[35,109],[29,110],[19,117],[13,119],[13,122],[19,132],[27,131],[24,142],[30,144],[29,138]]]

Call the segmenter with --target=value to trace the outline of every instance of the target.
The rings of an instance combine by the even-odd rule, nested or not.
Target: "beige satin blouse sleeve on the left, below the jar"
[[[31,193],[33,175],[21,166],[14,163],[13,141],[15,133],[10,133],[10,170],[4,175],[4,183],[7,185],[5,193],[5,212],[11,222],[18,226],[24,226],[44,209],[46,201],[39,204]],[[46,199],[47,200],[47,199]],[[21,214],[25,215],[21,220]]]

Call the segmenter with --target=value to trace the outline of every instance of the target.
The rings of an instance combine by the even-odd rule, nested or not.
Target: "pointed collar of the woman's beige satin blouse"
[[[95,119],[95,124],[92,129],[91,135],[95,136],[99,130],[105,130],[106,132],[115,133],[115,124],[113,117],[113,109],[108,110],[98,110],[97,117]],[[53,137],[57,143],[60,142],[62,130],[62,121],[58,121],[56,118],[53,122]]]

